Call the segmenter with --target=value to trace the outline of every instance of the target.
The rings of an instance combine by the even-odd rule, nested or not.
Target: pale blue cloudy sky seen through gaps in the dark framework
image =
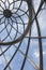
[[[4,1],[4,0],[2,0],[2,1]],[[6,0],[7,1],[7,0]],[[12,2],[13,0],[10,0],[10,2]],[[40,1],[41,0],[33,0],[33,4],[34,4],[34,10],[35,10],[35,12],[37,11],[37,8],[39,8],[39,5],[40,5]],[[1,1],[0,1],[0,3],[1,3]],[[7,3],[7,2],[6,2]],[[18,4],[20,4],[20,2],[17,2],[17,4],[15,3],[15,6],[16,8],[18,8],[19,5]],[[44,4],[45,5],[45,4]],[[43,8],[44,8],[44,5],[43,5]],[[6,4],[6,6],[7,6],[7,4]],[[46,5],[45,5],[46,6]],[[3,8],[4,8],[4,5],[3,5]],[[12,5],[10,5],[10,10],[13,8],[13,4]],[[0,8],[1,9],[1,8]],[[22,5],[21,5],[21,8],[20,9],[22,9],[22,10],[25,10],[25,11],[27,11],[28,10],[28,5],[27,5],[27,2],[22,2]],[[13,10],[12,12],[15,12],[15,10]],[[18,11],[17,12],[17,14],[19,14],[19,15],[21,15],[24,12],[20,12],[20,11]],[[13,14],[13,16],[14,16],[15,14]],[[15,16],[18,16],[18,15],[15,15]],[[24,16],[21,16],[21,18],[22,18],[22,20],[25,22],[25,24],[26,24],[26,26],[25,26],[25,29],[26,29],[26,27],[27,27],[27,23],[28,23],[28,16],[27,15],[24,15]],[[14,18],[13,18],[14,19]],[[37,19],[39,19],[39,24],[40,24],[40,27],[41,27],[41,33],[42,33],[42,36],[43,37],[46,37],[46,10],[43,10],[42,12],[40,12],[40,14],[37,15]],[[1,20],[1,22],[3,22],[4,20],[4,18]],[[14,19],[15,20],[15,19]],[[16,20],[18,22],[18,23],[21,23],[21,19],[20,18],[16,18]],[[7,23],[7,19],[5,20],[5,24]],[[11,19],[10,19],[10,23],[12,23],[11,22]],[[12,25],[12,24],[11,24]],[[9,32],[10,32],[10,29],[11,29],[11,25],[9,24],[7,25],[7,30],[9,30]],[[17,25],[15,24],[15,23],[13,23],[13,27],[17,30]],[[3,29],[4,28],[4,23],[2,24],[2,25],[0,25],[0,31],[1,31],[1,29]],[[19,25],[18,24],[18,31],[20,32],[20,33],[22,33],[24,32],[24,26],[22,25]],[[10,33],[10,36],[11,36],[11,38],[12,38],[12,40],[14,39],[14,37],[15,37],[15,33],[16,33],[16,31],[12,28],[12,31],[11,31],[11,33]],[[6,30],[4,29],[1,33],[0,33],[0,38],[1,38],[1,40],[3,40],[3,38],[5,38],[7,36],[7,32],[6,32]],[[17,37],[16,38],[18,38],[20,34],[19,33],[17,33]],[[28,34],[27,34],[28,36]],[[32,32],[31,32],[31,36],[36,36],[37,37],[37,30],[36,30],[36,25],[35,25],[35,22],[33,23],[33,26],[32,26]],[[4,41],[11,41],[11,39],[10,39],[10,37],[7,37]],[[43,62],[44,62],[44,70],[46,70],[46,39],[44,40],[44,39],[42,39],[42,42],[43,42]],[[18,44],[19,43],[17,43],[17,44],[15,44],[16,45],[16,47],[18,47]],[[20,45],[20,51],[25,54],[26,53],[26,48],[27,48],[27,44],[28,44],[28,39],[27,38],[25,38],[24,39],[24,41],[22,41],[22,43],[21,43],[21,45]],[[6,48],[6,46],[2,46],[2,51],[4,51]],[[7,59],[7,61],[11,59],[11,57],[12,57],[12,55],[14,54],[14,52],[16,51],[16,48],[14,47],[14,45],[12,45],[11,47],[10,47],[10,50],[7,50],[7,52],[4,54],[5,55],[5,58]],[[20,70],[20,67],[21,67],[21,64],[22,64],[22,60],[24,60],[24,55],[20,53],[20,51],[18,51],[17,52],[17,54],[15,55],[15,57],[14,57],[14,59],[13,59],[13,61],[11,62],[11,65],[10,65],[10,67],[11,67],[11,69],[12,70]],[[0,50],[0,54],[1,54],[1,50]],[[39,65],[40,65],[40,59],[39,59],[39,57],[40,57],[40,53],[39,53],[39,40],[31,40],[30,41],[30,48],[29,48],[29,53],[28,53],[28,57],[30,57],[33,61],[34,61],[34,64],[39,67]],[[5,59],[4,59],[4,57],[3,56],[1,56],[0,57],[0,69],[1,70],[3,70],[3,68],[5,67],[5,65],[6,65],[6,62],[5,62]],[[6,69],[6,70],[9,70],[9,68]],[[26,65],[25,65],[25,68],[24,68],[24,70],[35,70],[34,68],[33,68],[33,66],[28,61],[28,58],[27,58],[27,60],[26,60]]]

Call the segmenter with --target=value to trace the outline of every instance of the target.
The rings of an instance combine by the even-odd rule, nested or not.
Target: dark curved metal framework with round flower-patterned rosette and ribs
[[[6,2],[7,2],[7,4],[6,4]],[[22,8],[21,8],[22,2],[27,3],[27,5],[28,5],[27,11],[22,10]],[[42,11],[42,6],[45,2],[46,2],[46,0],[41,0],[37,12],[35,13],[32,0],[13,0],[13,2],[11,2],[11,3],[10,3],[10,0],[0,0],[0,26],[4,25],[4,28],[2,28],[0,30],[0,34],[3,33],[4,30],[6,30],[6,33],[7,33],[7,34],[5,34],[5,37],[3,37],[3,39],[1,39],[2,36],[0,37],[0,51],[1,51],[0,57],[3,55],[5,62],[6,62],[6,66],[3,68],[3,70],[6,70],[6,68],[9,68],[9,70],[12,70],[10,64],[12,62],[12,60],[14,59],[14,57],[18,51],[24,56],[24,61],[22,61],[20,70],[24,70],[26,60],[28,60],[35,68],[35,70],[44,70],[43,69],[42,39],[46,39],[46,37],[41,36],[41,29],[40,29],[40,25],[39,25],[39,20],[37,20],[37,15]],[[18,3],[18,6],[16,5],[16,3]],[[24,18],[21,18],[22,16],[24,17],[27,16],[29,18],[29,20],[27,23],[25,23]],[[18,18],[20,19],[20,22]],[[39,37],[31,37],[31,29],[32,29],[34,20],[36,22],[36,29],[37,29]],[[16,24],[16,27],[13,26],[15,24]],[[7,29],[9,25],[10,25],[10,29]],[[18,25],[22,26],[22,32],[19,31]],[[20,28],[20,26],[19,26],[19,28]],[[14,38],[11,34],[12,29],[14,29],[14,31],[15,31]],[[29,33],[28,37],[27,37],[27,33]],[[9,41],[6,41],[7,37],[10,37]],[[28,39],[26,54],[24,54],[21,52],[21,50],[19,50],[25,38]],[[37,67],[34,64],[34,61],[30,57],[28,57],[31,39],[39,39],[40,67]],[[18,47],[15,45],[16,43],[19,43]],[[10,61],[7,62],[7,59],[6,59],[4,53],[10,47],[12,47],[12,45],[16,50],[15,50],[15,53],[13,54],[13,56],[11,57]],[[6,48],[4,51],[2,51],[3,46],[6,46]]]

